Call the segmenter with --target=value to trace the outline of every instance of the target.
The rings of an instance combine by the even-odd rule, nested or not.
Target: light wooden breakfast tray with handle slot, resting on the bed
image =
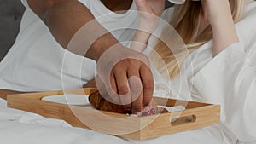
[[[181,112],[167,112],[151,116],[129,116],[125,114],[98,111],[79,106],[69,106],[41,99],[49,95],[90,95],[96,89],[75,89],[42,93],[8,95],[8,107],[38,113],[46,118],[58,118],[74,127],[97,130],[135,140],[146,140],[185,130],[194,130],[218,124],[220,107],[195,101],[179,101],[155,97],[158,105],[183,106]]]

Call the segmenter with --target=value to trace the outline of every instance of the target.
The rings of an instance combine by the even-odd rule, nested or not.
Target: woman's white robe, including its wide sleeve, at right
[[[154,71],[156,88],[169,88],[177,99],[221,105],[219,130],[234,143],[256,141],[256,2],[236,23],[240,43],[212,57],[212,41],[184,60],[179,76],[169,81]]]

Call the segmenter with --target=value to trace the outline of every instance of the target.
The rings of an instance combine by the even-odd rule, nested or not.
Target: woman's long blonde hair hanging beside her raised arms
[[[247,0],[230,0],[230,9],[235,23],[241,20],[246,3]],[[200,25],[201,14],[202,7],[200,1],[187,0],[183,5],[176,5],[170,24],[178,32],[180,37],[183,38],[183,42],[186,44],[189,52],[182,51],[181,54],[173,55],[172,51],[166,46],[166,43],[159,41],[150,54],[151,58],[154,57],[152,59],[154,66],[160,72],[163,69],[167,69],[170,78],[177,76],[180,72],[180,65],[187,58],[188,54],[212,39],[211,26],[207,26],[200,34],[196,34]],[[159,60],[155,59],[155,57],[159,56],[164,61],[166,67],[160,67],[158,64]]]

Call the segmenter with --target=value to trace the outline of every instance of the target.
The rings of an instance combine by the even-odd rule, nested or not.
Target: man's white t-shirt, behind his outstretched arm
[[[136,13],[113,13],[100,0],[80,2],[120,42],[131,40],[134,31],[124,27],[137,26]],[[26,11],[21,20],[20,33],[14,46],[0,63],[0,89],[55,90],[61,89],[62,83],[65,83],[66,89],[78,89],[94,78],[96,62],[63,49],[52,37],[48,27],[28,7],[26,0],[22,0],[22,3],[26,6]],[[131,10],[136,9],[136,4],[132,3]],[[127,46],[127,43],[124,45]],[[62,63],[64,55],[68,60]],[[65,82],[61,78],[65,78]]]

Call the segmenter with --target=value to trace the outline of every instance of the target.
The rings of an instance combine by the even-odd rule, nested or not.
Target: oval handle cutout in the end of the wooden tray
[[[196,121],[195,115],[188,115],[188,116],[183,116],[183,117],[178,117],[178,118],[170,117],[170,122],[171,122],[172,126],[195,123],[195,121]]]

